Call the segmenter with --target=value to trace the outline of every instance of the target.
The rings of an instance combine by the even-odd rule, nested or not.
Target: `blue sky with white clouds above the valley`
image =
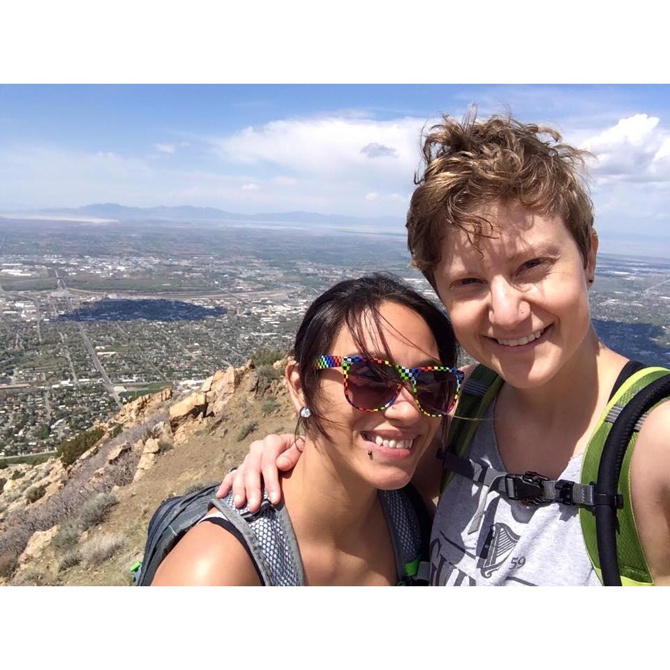
[[[509,108],[590,165],[601,237],[670,236],[670,87],[4,85],[0,210],[119,202],[404,216],[419,133]]]

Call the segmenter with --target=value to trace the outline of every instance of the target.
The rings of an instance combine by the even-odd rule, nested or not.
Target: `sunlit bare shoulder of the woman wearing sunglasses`
[[[198,523],[170,551],[151,586],[260,586],[251,558],[216,523]]]

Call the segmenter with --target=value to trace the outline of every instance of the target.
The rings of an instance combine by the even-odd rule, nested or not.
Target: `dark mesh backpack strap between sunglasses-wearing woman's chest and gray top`
[[[378,494],[391,534],[398,585],[427,583],[431,520],[421,496],[412,484]]]

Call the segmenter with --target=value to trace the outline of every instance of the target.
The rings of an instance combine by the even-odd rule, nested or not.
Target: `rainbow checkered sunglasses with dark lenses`
[[[444,365],[405,368],[380,358],[323,354],[314,364],[317,370],[342,368],[344,396],[362,412],[389,408],[403,386],[414,394],[417,407],[429,417],[443,417],[459,397],[463,373]]]

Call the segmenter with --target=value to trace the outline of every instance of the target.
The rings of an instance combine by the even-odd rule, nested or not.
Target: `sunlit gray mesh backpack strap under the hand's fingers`
[[[232,523],[246,542],[265,586],[304,586],[305,571],[295,531],[283,504],[271,505],[264,493],[258,512],[237,509],[232,493],[211,504]]]

